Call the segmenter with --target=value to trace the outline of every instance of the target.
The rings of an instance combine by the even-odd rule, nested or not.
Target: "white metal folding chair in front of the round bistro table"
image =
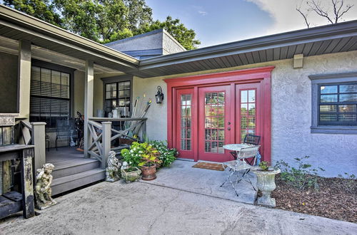
[[[229,161],[229,162],[223,162],[223,167],[226,166],[226,168],[228,168],[228,175],[226,178],[226,181],[223,182],[223,184],[221,184],[221,187],[226,184],[226,182],[229,180],[229,182],[231,182],[232,187],[234,189],[234,192],[236,192],[236,195],[238,197],[238,192],[236,190],[236,185],[241,182],[241,179],[243,179],[243,177],[248,174],[248,172],[251,170],[251,167],[253,167],[256,163],[256,155],[258,154],[258,150],[259,150],[260,145],[256,145],[256,146],[252,146],[252,147],[244,147],[242,148],[238,154],[237,154],[237,159],[233,160],[233,161]],[[247,158],[251,158],[253,157],[253,165],[248,164],[246,162]],[[239,174],[242,172],[241,176],[239,176]],[[233,183],[232,181],[232,177],[235,176],[236,177],[236,182]],[[251,179],[248,178],[248,181],[250,184],[251,183]],[[253,184],[252,184],[253,186]],[[256,190],[253,187],[254,190]]]

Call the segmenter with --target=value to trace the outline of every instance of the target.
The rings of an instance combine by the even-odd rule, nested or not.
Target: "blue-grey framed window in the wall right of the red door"
[[[311,132],[357,134],[357,72],[310,75]]]

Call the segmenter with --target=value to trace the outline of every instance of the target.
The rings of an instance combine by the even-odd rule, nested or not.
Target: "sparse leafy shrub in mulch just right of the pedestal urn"
[[[294,158],[297,167],[291,167],[288,163],[280,160],[276,162],[276,166],[281,169],[281,179],[293,187],[305,189],[306,187],[314,187],[318,189],[317,173],[318,170],[324,171],[321,167],[318,169],[311,168],[311,164],[303,162],[309,157]]]

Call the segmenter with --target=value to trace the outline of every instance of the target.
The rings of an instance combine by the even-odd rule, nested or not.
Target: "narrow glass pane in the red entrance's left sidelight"
[[[181,95],[181,150],[191,150],[191,94]]]

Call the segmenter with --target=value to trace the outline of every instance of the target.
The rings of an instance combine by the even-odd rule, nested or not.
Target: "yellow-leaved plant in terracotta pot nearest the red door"
[[[142,162],[139,163],[144,180],[153,180],[156,179],[156,167],[159,167],[161,160],[159,160],[158,151],[149,145],[146,148],[146,154],[142,155]]]

